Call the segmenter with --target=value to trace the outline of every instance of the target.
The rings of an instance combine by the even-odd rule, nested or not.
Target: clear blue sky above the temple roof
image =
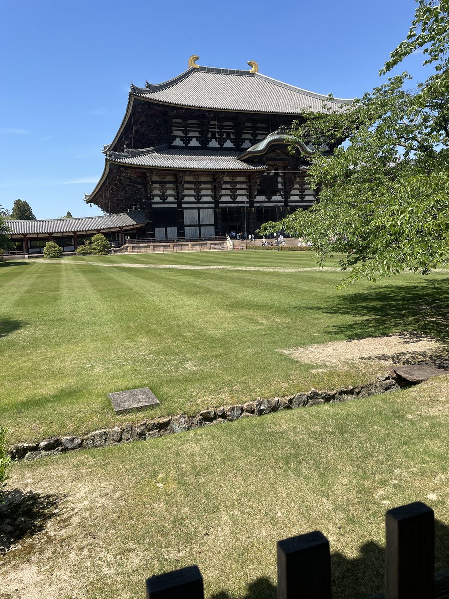
[[[38,218],[101,214],[85,204],[116,134],[129,83],[198,63],[249,68],[353,98],[404,40],[414,0],[0,0],[0,204]],[[419,54],[397,71],[422,80]]]

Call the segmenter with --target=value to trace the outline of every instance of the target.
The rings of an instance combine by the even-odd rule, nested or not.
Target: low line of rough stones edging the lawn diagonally
[[[29,460],[75,449],[93,449],[119,443],[131,443],[131,441],[145,441],[175,432],[190,431],[202,426],[232,422],[240,418],[253,418],[280,410],[294,410],[323,403],[339,403],[356,397],[370,397],[398,391],[398,389],[401,389],[401,386],[398,385],[396,379],[390,374],[385,374],[378,376],[376,382],[366,383],[359,387],[344,387],[334,391],[311,389],[308,393],[297,393],[288,397],[273,397],[268,400],[248,401],[245,404],[209,408],[198,412],[195,416],[185,414],[159,416],[153,420],[142,420],[139,423],[128,423],[115,428],[89,432],[80,437],[52,437],[44,439],[40,443],[19,443],[11,447],[11,457],[16,460]]]

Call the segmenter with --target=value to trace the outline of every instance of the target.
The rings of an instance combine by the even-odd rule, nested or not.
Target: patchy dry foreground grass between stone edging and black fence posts
[[[365,599],[383,588],[390,507],[435,510],[435,568],[449,567],[448,437],[445,376],[19,462],[8,482],[18,521],[17,508],[8,505],[13,521],[0,509],[10,548],[0,597],[138,599],[151,574],[198,564],[207,598],[274,599],[276,542],[318,529],[330,540],[334,599]]]

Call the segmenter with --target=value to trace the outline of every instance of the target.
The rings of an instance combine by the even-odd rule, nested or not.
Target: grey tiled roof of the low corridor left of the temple
[[[37,233],[73,233],[76,231],[98,231],[143,225],[147,222],[144,210],[106,214],[105,216],[86,216],[73,219],[45,220],[7,220],[11,235],[32,235]]]

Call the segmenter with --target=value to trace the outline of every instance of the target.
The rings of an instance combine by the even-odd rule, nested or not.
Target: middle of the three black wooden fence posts
[[[278,542],[278,599],[330,599],[329,541],[320,531]]]

